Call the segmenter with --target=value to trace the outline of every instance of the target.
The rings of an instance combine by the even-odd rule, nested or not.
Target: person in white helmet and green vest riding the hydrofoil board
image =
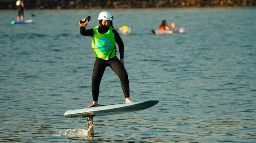
[[[92,104],[88,107],[100,106],[98,104],[99,85],[103,73],[107,66],[109,66],[119,77],[124,92],[125,103],[133,102],[130,100],[130,87],[128,74],[124,68],[124,43],[120,35],[113,27],[113,16],[110,12],[102,11],[99,13],[99,25],[86,29],[88,24],[86,18],[80,23],[80,34],[83,36],[92,37],[92,49],[94,49],[94,56],[96,58],[92,72]],[[116,46],[118,45],[120,60],[116,57]]]

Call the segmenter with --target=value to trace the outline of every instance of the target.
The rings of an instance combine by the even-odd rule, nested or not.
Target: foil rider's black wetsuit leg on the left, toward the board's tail
[[[93,67],[92,82],[91,82],[93,101],[98,101],[99,85],[106,67],[107,67],[107,64],[105,63],[105,60],[96,58],[94,67]]]

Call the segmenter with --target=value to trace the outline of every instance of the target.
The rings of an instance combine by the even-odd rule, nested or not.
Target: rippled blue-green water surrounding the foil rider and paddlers
[[[256,142],[255,8],[119,9],[131,99],[150,109],[86,120],[64,112],[92,102],[91,38],[78,21],[102,10],[31,10],[34,24],[11,26],[0,11],[0,142]],[[25,12],[25,19],[30,19]],[[154,35],[161,20],[184,34]],[[119,55],[118,55],[119,56]],[[124,102],[107,68],[99,104]]]

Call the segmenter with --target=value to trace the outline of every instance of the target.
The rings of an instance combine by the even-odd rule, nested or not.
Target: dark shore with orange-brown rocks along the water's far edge
[[[256,0],[35,0],[24,1],[29,9],[101,9],[256,6]],[[15,1],[0,1],[0,9],[16,9]]]

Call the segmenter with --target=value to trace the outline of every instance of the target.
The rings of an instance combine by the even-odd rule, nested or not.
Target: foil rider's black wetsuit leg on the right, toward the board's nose
[[[110,65],[111,69],[116,73],[119,77],[122,85],[122,89],[124,92],[124,97],[130,97],[130,87],[129,87],[129,79],[128,74],[121,63],[121,61],[117,57],[113,57],[108,60],[108,64]]]

